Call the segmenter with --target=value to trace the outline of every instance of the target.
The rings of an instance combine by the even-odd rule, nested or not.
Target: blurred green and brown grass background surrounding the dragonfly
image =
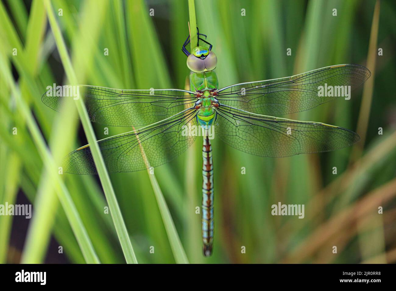
[[[189,71],[181,46],[188,35],[187,0],[51,5],[78,84],[185,88]],[[396,262],[395,2],[196,0],[195,10],[200,32],[217,54],[219,87],[345,63],[366,66],[371,77],[349,101],[340,98],[286,116],[354,130],[362,140],[353,147],[275,159],[213,140],[212,257],[202,255],[201,214],[195,213],[202,199],[202,140],[155,169],[188,261]],[[85,263],[31,130],[39,129],[55,161],[87,143],[78,119],[41,101],[47,86],[68,84],[44,2],[2,0],[0,38],[0,204],[33,209],[32,219],[0,216],[0,262]],[[97,139],[108,137],[103,126],[93,127]],[[109,135],[129,130],[109,127]],[[124,263],[99,178],[61,178],[99,261]],[[110,179],[137,261],[176,262],[147,171],[114,173]],[[271,205],[278,202],[304,204],[305,218],[272,216]]]

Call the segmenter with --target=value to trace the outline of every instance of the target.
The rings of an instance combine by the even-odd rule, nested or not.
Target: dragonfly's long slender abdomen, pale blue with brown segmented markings
[[[204,256],[208,257],[213,250],[213,228],[214,228],[214,209],[213,209],[213,161],[212,146],[208,133],[204,137],[202,147],[202,240],[204,243]]]

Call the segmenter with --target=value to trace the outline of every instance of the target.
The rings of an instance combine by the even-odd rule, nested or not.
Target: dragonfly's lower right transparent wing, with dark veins
[[[319,122],[303,122],[219,107],[215,137],[257,156],[286,157],[328,152],[360,141],[357,133]]]

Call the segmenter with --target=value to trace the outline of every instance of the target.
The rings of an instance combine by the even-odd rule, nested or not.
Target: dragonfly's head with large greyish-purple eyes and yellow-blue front
[[[187,58],[187,67],[194,73],[214,70],[217,66],[217,57],[213,51],[204,46],[197,46]]]

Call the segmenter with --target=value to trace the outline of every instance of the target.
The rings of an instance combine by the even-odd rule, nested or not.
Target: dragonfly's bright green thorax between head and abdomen
[[[216,90],[217,87],[219,87],[219,81],[213,70],[202,73],[190,73],[191,91],[200,91],[202,93],[202,97],[198,101],[201,107],[197,114],[198,123],[202,126],[211,125],[215,119],[216,112],[212,106],[215,99],[211,96],[211,91]]]

